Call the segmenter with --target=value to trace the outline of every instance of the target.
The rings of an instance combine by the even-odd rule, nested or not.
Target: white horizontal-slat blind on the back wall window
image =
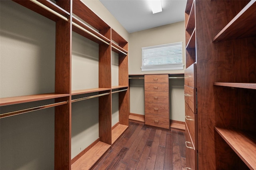
[[[142,47],[142,71],[180,70],[182,42]]]

